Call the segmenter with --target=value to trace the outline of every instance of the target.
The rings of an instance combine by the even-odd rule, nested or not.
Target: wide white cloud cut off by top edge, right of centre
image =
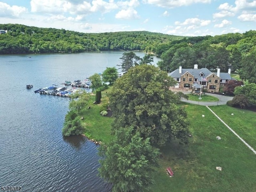
[[[143,0],[144,3],[154,4],[159,7],[174,8],[188,6],[195,3],[210,3],[211,0]]]

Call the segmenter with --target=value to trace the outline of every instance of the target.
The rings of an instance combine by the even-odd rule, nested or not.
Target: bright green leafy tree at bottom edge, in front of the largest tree
[[[153,184],[154,166],[157,166],[158,149],[144,140],[133,128],[120,128],[111,142],[99,148],[99,174],[113,184],[112,192],[145,191]]]

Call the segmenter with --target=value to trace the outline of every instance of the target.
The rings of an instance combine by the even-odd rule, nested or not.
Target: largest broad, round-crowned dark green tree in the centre
[[[169,90],[173,78],[152,65],[131,68],[109,92],[115,117],[113,131],[133,126],[143,138],[164,145],[171,138],[188,142],[186,112],[176,106],[177,96]]]

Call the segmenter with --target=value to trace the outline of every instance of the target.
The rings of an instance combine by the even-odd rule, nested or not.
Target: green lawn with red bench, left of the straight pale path
[[[223,113],[229,110],[227,106],[216,108]],[[186,110],[191,122],[190,144],[180,146],[173,141],[160,148],[160,168],[154,174],[156,184],[151,191],[255,192],[256,155],[205,106],[186,104]],[[244,116],[251,114],[243,112]],[[243,120],[242,116],[236,118]],[[174,171],[172,178],[165,173],[168,166]],[[216,170],[216,166],[223,170]]]

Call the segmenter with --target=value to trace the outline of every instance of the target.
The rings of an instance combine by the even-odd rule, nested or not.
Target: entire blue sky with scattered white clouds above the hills
[[[256,0],[0,0],[0,23],[180,36],[256,30]]]

